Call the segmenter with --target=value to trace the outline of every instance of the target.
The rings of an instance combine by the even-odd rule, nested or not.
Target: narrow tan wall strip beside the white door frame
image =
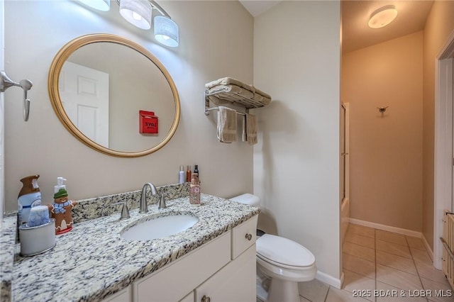
[[[423,42],[423,221],[426,241],[433,249],[433,167],[435,140],[435,62],[454,30],[454,1],[435,1],[424,28]]]

